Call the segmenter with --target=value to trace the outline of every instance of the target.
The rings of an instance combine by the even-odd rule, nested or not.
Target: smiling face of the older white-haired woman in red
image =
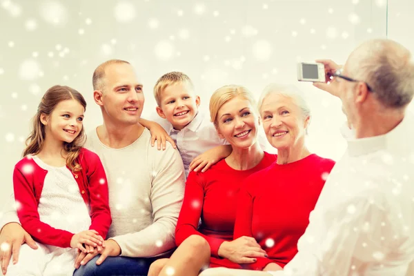
[[[302,109],[292,97],[274,93],[267,95],[260,115],[266,137],[274,148],[279,150],[304,143],[310,118],[304,118]]]

